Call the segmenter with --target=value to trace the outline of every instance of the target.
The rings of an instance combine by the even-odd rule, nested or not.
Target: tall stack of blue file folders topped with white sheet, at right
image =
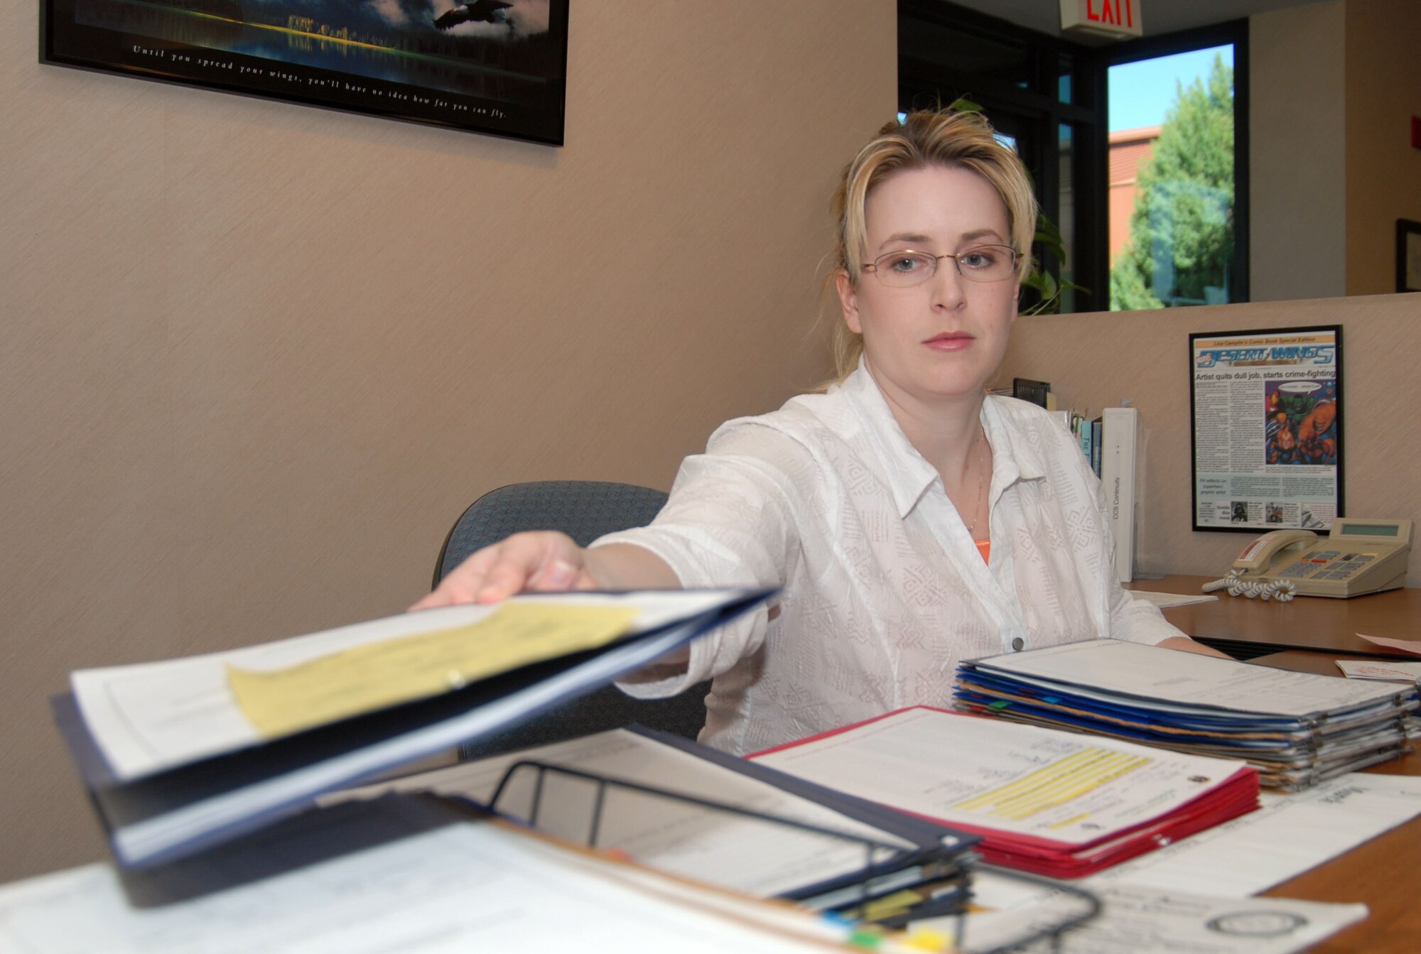
[[[1296,791],[1408,751],[1415,687],[1292,673],[1121,640],[962,663],[953,706],[1178,752],[1246,760]]]

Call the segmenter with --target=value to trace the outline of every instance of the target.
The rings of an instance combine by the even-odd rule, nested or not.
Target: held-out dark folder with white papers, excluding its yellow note
[[[271,741],[242,713],[227,666],[273,670],[487,618],[489,606],[404,613],[310,636],[166,663],[87,670],[54,700],[60,728],[114,852],[152,865],[229,840],[311,799],[492,735],[659,659],[769,596],[769,591],[655,591],[519,596],[634,610],[630,632],[556,659],[524,660],[462,689]],[[597,639],[605,636],[597,623]],[[541,653],[540,653],[541,654]]]

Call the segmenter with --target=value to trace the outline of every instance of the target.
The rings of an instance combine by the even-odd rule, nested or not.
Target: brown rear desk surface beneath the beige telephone
[[[1209,576],[1137,579],[1130,589],[1198,593]],[[1218,601],[1175,606],[1165,619],[1202,643],[1239,657],[1259,652],[1312,650],[1346,656],[1421,656],[1385,649],[1357,633],[1391,639],[1421,639],[1421,589],[1393,589],[1351,599],[1299,596],[1286,603],[1216,593]]]

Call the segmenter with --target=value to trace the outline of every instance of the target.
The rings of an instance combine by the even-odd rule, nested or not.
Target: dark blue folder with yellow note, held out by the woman
[[[327,791],[506,731],[773,591],[514,596],[158,663],[51,700],[121,865],[260,829]]]

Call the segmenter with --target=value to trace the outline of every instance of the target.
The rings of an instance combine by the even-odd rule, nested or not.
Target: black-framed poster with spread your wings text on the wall
[[[40,0],[40,61],[563,145],[570,0]]]

